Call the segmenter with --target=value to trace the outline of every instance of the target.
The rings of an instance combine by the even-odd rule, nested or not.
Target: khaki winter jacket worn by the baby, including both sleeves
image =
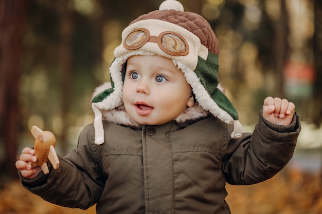
[[[226,182],[273,177],[291,159],[300,131],[297,116],[287,127],[260,118],[254,133],[240,139],[231,139],[232,126],[213,116],[141,129],[103,126],[104,144],[94,144],[94,126],[86,126],[77,149],[60,157],[59,169],[22,178],[24,186],[61,206],[97,203],[98,214],[230,213]]]

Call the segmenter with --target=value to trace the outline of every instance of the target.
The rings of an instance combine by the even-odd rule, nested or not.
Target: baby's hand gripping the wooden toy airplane
[[[24,148],[20,155],[20,160],[15,162],[15,167],[21,171],[23,177],[33,179],[41,172],[41,168],[37,166],[37,157],[34,155],[34,150]]]

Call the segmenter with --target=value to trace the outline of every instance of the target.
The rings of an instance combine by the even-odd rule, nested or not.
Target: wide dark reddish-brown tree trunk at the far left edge
[[[24,12],[23,0],[0,3],[0,143],[5,144],[5,161],[0,167],[11,178],[17,176],[14,165],[19,131],[18,82]]]

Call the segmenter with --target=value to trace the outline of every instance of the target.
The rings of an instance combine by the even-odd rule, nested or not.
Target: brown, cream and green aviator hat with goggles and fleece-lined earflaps
[[[171,59],[184,73],[196,102],[227,124],[233,124],[231,138],[240,138],[242,127],[238,114],[226,95],[218,88],[219,44],[209,23],[200,15],[184,12],[176,0],[164,1],[159,10],[136,18],[122,32],[122,43],[114,50],[110,67],[112,88],[92,100],[95,113],[95,143],[104,143],[101,111],[123,105],[122,73],[133,55],[159,55]]]

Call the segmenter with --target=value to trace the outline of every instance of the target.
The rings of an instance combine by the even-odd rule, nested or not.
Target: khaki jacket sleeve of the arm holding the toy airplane
[[[65,158],[59,156],[58,169],[51,169],[47,176],[41,172],[33,180],[21,176],[24,187],[60,206],[87,209],[97,203],[104,182],[100,167],[93,157],[94,135],[93,125],[86,126],[80,134],[77,149]]]

